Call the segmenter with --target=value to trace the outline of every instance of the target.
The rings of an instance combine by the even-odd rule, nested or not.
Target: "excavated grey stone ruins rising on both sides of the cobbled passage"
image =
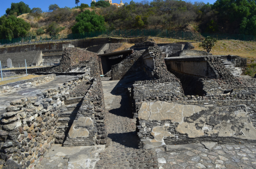
[[[80,74],[58,89],[12,101],[6,107],[0,130],[2,162],[11,159],[26,168],[54,143],[107,144],[100,75],[110,80],[138,76],[126,90],[137,121],[139,148],[205,141],[255,143],[256,80],[240,76],[245,58],[192,50],[192,43],[149,41],[113,52],[120,46],[108,44],[105,50],[103,45],[100,51],[106,52],[100,54],[66,47],[60,65],[45,72]],[[103,56],[112,57],[116,64],[104,65]],[[103,71],[104,66],[108,70]],[[84,93],[76,91],[78,84],[84,84]],[[64,107],[75,103],[75,109]],[[68,109],[73,119],[67,121]]]

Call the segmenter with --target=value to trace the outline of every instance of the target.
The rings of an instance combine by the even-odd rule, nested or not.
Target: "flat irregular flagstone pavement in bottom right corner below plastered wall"
[[[184,151],[165,152],[155,150],[159,169],[228,168],[255,169],[255,145],[216,144],[211,150],[197,148]]]

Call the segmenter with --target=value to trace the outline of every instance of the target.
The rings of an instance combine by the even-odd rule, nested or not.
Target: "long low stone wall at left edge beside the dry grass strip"
[[[27,80],[20,80],[18,82],[7,83],[5,85],[0,85],[0,93],[13,92],[20,90],[21,88],[28,88],[31,86],[41,85],[43,83],[51,82],[56,77],[55,74],[34,77]]]

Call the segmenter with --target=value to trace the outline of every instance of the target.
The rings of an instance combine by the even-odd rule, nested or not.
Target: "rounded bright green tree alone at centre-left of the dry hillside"
[[[85,10],[76,16],[76,24],[71,28],[72,33],[85,33],[106,30],[104,18],[95,11]]]

